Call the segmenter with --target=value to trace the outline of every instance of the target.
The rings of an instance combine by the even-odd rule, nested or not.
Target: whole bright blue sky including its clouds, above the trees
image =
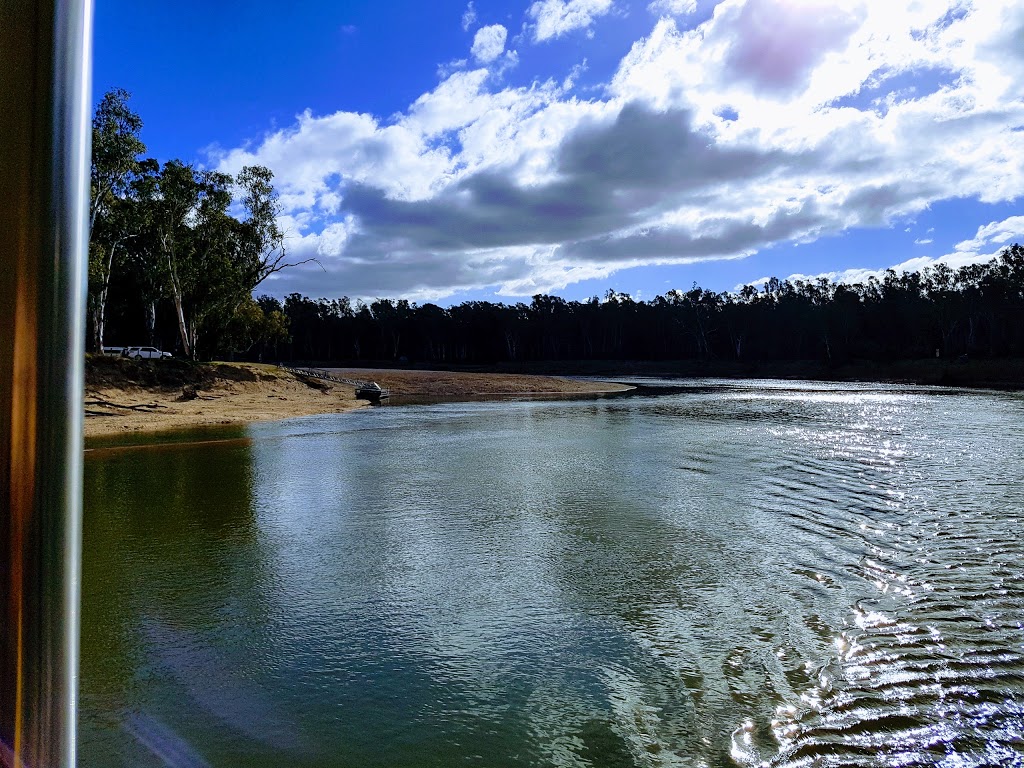
[[[96,0],[94,100],[275,175],[283,296],[651,298],[1024,242],[1014,0]]]

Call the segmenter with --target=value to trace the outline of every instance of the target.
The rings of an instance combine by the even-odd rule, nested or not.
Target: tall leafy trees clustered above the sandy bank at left
[[[112,274],[119,304],[138,306],[147,341],[170,314],[187,357],[287,337],[279,308],[262,318],[252,294],[286,261],[273,174],[243,168],[237,178],[177,160],[141,159],[142,121],[129,94],[113,90],[93,120],[89,305],[93,346],[103,343]],[[236,216],[233,204],[242,215]],[[136,310],[138,311],[138,310]],[[253,336],[253,334],[256,334]],[[138,334],[122,343],[138,343]],[[166,336],[164,337],[166,339]],[[229,350],[228,350],[229,351]]]

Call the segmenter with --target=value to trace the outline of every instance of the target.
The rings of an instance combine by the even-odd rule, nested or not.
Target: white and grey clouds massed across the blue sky
[[[304,113],[211,164],[274,171],[292,255],[328,274],[264,288],[317,296],[528,295],[1024,195],[1016,3],[833,7],[723,0],[692,30],[660,18],[590,99],[571,75],[502,85],[507,33],[485,27],[474,56],[487,67],[447,73],[400,114]],[[529,14],[549,39],[610,8],[547,0]],[[986,224],[940,258],[983,260],[1022,224]]]

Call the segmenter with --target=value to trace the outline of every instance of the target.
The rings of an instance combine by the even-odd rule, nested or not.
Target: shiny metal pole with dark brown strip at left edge
[[[0,0],[0,765],[75,765],[91,0]]]

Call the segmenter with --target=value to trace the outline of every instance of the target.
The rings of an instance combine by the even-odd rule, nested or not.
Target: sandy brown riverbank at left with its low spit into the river
[[[374,380],[393,395],[416,397],[578,395],[628,388],[515,374],[346,369],[336,375]],[[91,358],[86,366],[86,437],[273,421],[367,407],[355,399],[349,385],[295,376],[274,366],[120,358]]]

